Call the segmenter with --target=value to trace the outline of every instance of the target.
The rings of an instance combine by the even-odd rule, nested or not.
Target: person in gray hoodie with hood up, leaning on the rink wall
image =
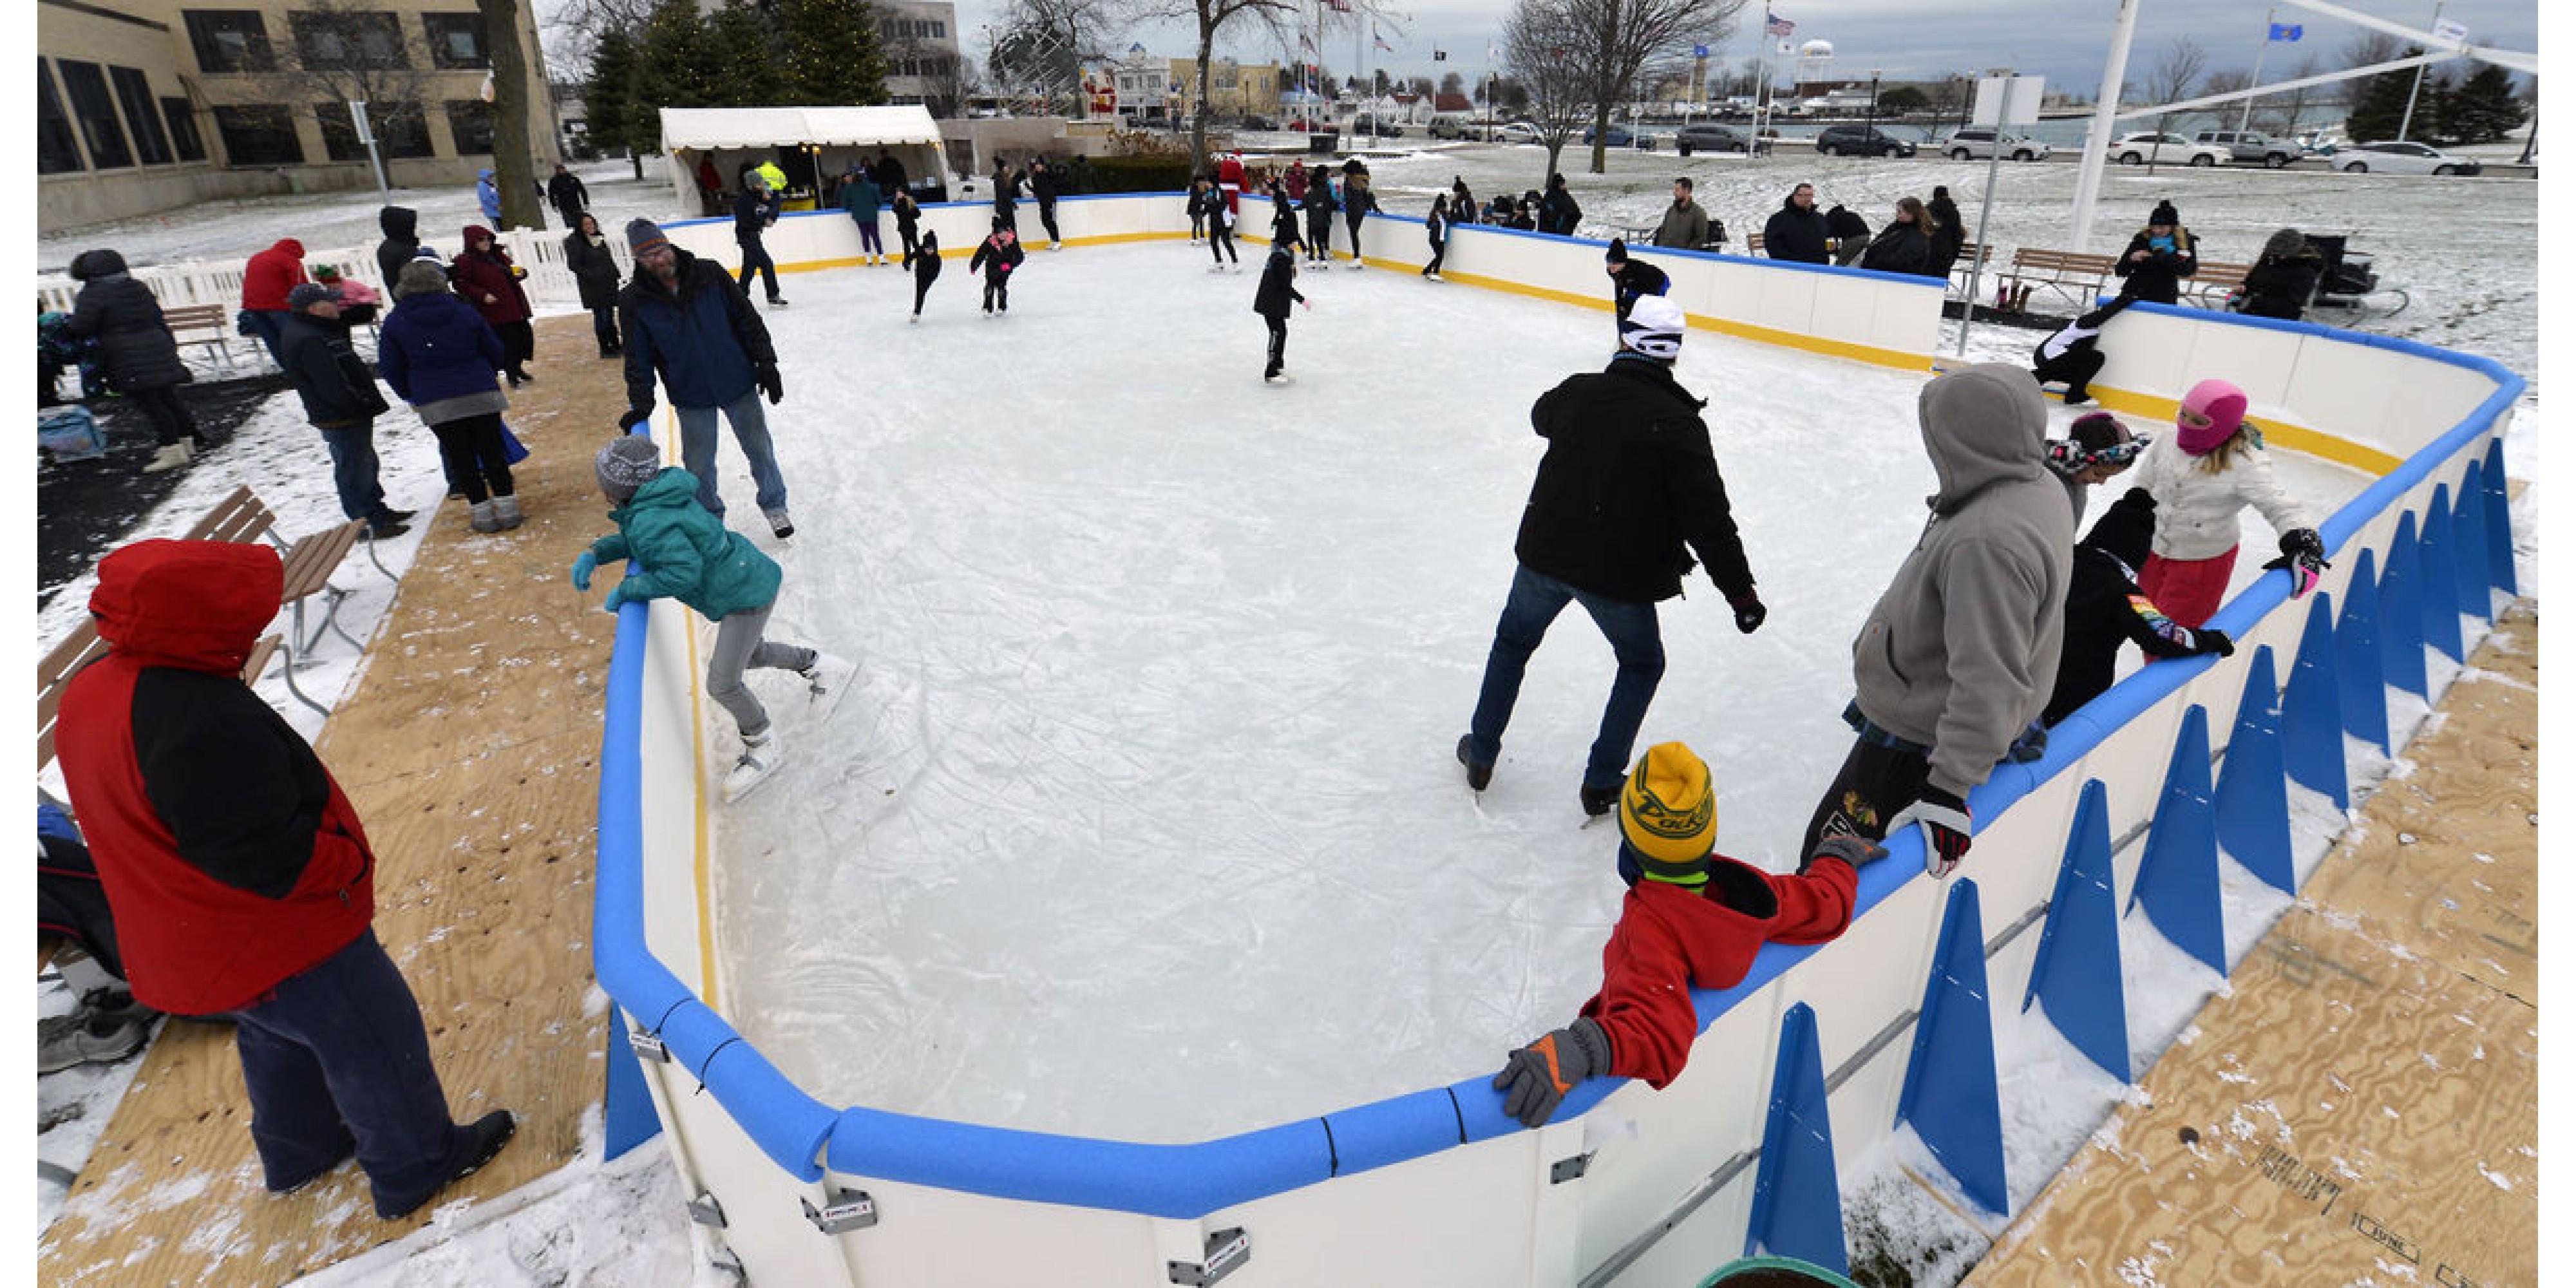
[[[1968,791],[2048,706],[2066,631],[2074,518],[2043,464],[2048,402],[2030,371],[1978,363],[1917,399],[1940,489],[1914,551],[1852,639],[1860,734],[1816,801],[1821,837],[1924,829],[1924,868],[1968,853]]]

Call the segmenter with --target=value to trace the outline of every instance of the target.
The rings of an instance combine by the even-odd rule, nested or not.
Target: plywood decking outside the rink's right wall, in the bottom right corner
[[[1968,1278],[2540,1283],[2540,618]]]

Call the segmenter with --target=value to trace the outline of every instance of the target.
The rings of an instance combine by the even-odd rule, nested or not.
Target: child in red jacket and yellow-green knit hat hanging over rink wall
[[[1587,1077],[1641,1077],[1664,1090],[1690,1061],[1700,1012],[1690,989],[1744,981],[1765,943],[1826,943],[1852,925],[1860,866],[1886,850],[1826,837],[1772,876],[1713,850],[1708,765],[1680,742],[1649,747],[1620,791],[1620,878],[1628,899],[1602,948],[1602,989],[1577,1020],[1510,1054],[1494,1074],[1502,1110],[1546,1126]]]

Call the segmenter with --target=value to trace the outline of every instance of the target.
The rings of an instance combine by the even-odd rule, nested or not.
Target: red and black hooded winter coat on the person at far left
[[[137,541],[98,562],[108,654],[64,685],[54,757],[149,1007],[247,1007],[376,917],[358,811],[240,677],[283,582],[260,541]]]

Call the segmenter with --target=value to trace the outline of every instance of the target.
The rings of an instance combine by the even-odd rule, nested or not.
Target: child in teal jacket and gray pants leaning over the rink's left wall
[[[618,531],[590,544],[572,562],[572,590],[590,590],[600,564],[631,559],[626,580],[608,587],[605,608],[675,598],[716,623],[706,659],[706,696],[734,716],[742,755],[724,778],[724,799],[739,801],[778,770],[770,714],[742,683],[750,667],[793,670],[806,680],[814,719],[840,703],[853,665],[840,657],[765,639],[778,605],[778,562],[698,505],[698,477],[662,464],[662,448],[644,435],[621,435],[595,461],[600,492],[616,502]]]

